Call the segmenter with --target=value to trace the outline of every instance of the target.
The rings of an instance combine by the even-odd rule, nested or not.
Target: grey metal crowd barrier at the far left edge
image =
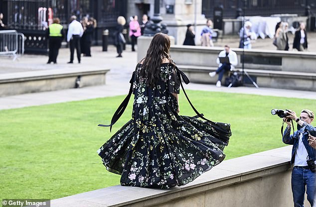
[[[0,31],[0,55],[13,56],[15,60],[24,54],[24,34],[16,30]]]

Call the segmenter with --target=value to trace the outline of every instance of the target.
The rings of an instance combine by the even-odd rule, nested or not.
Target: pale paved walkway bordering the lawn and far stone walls
[[[310,40],[316,40],[316,33],[310,35]],[[223,46],[238,41],[237,38],[229,38],[219,40],[215,46]],[[256,49],[274,49],[271,39],[257,40],[253,44]],[[260,43],[260,47],[259,47]],[[269,43],[269,44],[268,44]],[[313,45],[315,43],[315,46]],[[316,52],[316,41],[311,44],[310,50]],[[233,44],[231,44],[233,46]],[[273,46],[273,47],[271,47]],[[131,52],[131,48],[127,45],[127,50],[123,53],[123,58],[116,58],[116,49],[112,45],[108,47],[108,52],[102,52],[101,46],[92,47],[92,57],[82,57],[81,64],[77,63],[75,58],[74,64],[67,64],[69,61],[69,49],[60,49],[57,59],[58,64],[46,64],[48,57],[44,55],[24,55],[16,61],[7,57],[0,57],[0,75],[3,73],[15,73],[23,71],[36,70],[67,70],[67,68],[109,68],[111,71],[107,74],[106,85],[86,87],[81,89],[67,89],[53,92],[42,92],[35,94],[24,94],[17,96],[9,96],[0,98],[0,109],[19,108],[25,106],[42,105],[50,103],[62,103],[70,101],[80,101],[87,99],[95,99],[102,97],[111,97],[125,95],[129,90],[129,79],[136,66],[137,52]],[[294,90],[280,89],[256,89],[254,87],[238,87],[238,88],[216,88],[214,85],[192,84],[185,86],[190,90],[214,91],[226,93],[242,93],[256,94],[263,96],[276,97],[295,97],[303,99],[316,99],[315,92],[302,92]]]

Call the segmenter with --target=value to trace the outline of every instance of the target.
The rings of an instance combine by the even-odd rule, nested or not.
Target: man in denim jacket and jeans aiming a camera
[[[289,114],[283,121],[288,124],[283,133],[283,142],[292,144],[291,164],[294,164],[292,171],[292,192],[294,199],[294,207],[304,207],[305,189],[307,199],[311,206],[314,205],[314,197],[316,191],[316,173],[315,159],[316,150],[309,145],[309,133],[315,132],[315,128],[311,125],[314,119],[314,112],[304,109],[300,118],[297,117],[295,111],[287,111]],[[298,123],[298,130],[291,134],[292,119]],[[313,166],[314,165],[314,166]]]

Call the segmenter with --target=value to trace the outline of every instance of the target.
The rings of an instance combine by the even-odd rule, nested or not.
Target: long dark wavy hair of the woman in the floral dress
[[[169,55],[169,49],[170,39],[168,35],[157,33],[147,50],[143,66],[140,71],[140,77],[146,80],[147,86],[154,88],[156,85],[159,79],[160,64],[162,60],[166,58],[169,60],[169,63],[174,66],[174,63]]]

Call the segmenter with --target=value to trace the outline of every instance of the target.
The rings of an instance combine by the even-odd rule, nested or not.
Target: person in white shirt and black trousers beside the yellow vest
[[[70,24],[68,26],[67,42],[70,43],[70,61],[68,63],[73,63],[75,48],[77,52],[78,63],[80,63],[80,37],[83,35],[83,27],[76,19],[76,16],[71,16]]]

